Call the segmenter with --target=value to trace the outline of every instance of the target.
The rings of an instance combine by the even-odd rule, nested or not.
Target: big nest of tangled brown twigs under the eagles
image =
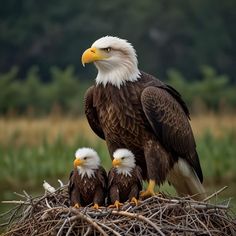
[[[53,193],[22,200],[1,215],[7,235],[236,235],[236,220],[229,203],[215,205],[190,198],[153,196],[135,206],[125,203],[120,210],[68,205],[67,186]]]

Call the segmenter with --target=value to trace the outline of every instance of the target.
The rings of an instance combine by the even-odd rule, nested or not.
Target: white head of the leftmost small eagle
[[[88,178],[94,176],[94,171],[100,166],[100,158],[96,151],[92,148],[79,148],[75,152],[74,167],[79,175],[83,178],[85,175]]]

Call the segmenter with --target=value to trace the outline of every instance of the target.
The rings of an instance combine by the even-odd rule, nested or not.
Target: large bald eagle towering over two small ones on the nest
[[[85,95],[85,114],[106,140],[110,155],[130,149],[149,181],[143,196],[169,180],[181,195],[204,197],[203,175],[189,124],[189,111],[171,86],[138,69],[136,52],[124,39],[106,36],[82,55],[94,62],[96,85]]]

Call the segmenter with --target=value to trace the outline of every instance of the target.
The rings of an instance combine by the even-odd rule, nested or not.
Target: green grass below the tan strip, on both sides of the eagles
[[[91,142],[82,134],[73,144],[65,144],[59,135],[55,142],[46,139],[39,146],[12,147],[0,144],[0,200],[14,199],[13,192],[27,190],[42,193],[43,180],[57,186],[57,179],[67,183],[73,168],[77,148],[93,147],[100,155],[102,165],[109,170],[110,157],[102,140]],[[236,195],[236,132],[228,131],[221,138],[206,132],[197,139],[197,149],[208,190],[231,186],[228,196]],[[215,187],[217,186],[217,187]],[[168,188],[167,188],[168,190]],[[3,206],[0,204],[0,210]]]

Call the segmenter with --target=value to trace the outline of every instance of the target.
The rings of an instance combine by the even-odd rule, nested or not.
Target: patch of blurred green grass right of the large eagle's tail
[[[209,131],[197,139],[203,174],[207,181],[236,181],[236,132],[226,131],[215,137]]]

